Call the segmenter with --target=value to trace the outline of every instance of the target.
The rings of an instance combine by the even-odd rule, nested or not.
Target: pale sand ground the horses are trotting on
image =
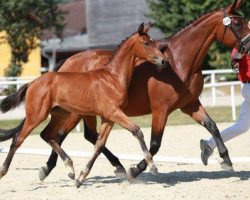
[[[230,124],[218,124],[223,129]],[[150,128],[143,129],[149,144]],[[231,157],[250,157],[250,132],[229,141],[226,146]],[[199,125],[166,127],[159,156],[199,158],[199,140],[210,134]],[[9,146],[3,142],[1,147]],[[31,135],[24,148],[50,149],[38,135]],[[137,140],[127,131],[110,134],[107,147],[114,154],[142,155]],[[67,151],[91,152],[93,146],[82,134],[73,133],[63,144]],[[5,153],[0,154],[3,163]],[[234,173],[223,172],[218,164],[179,164],[156,162],[157,176],[148,170],[133,184],[116,178],[114,167],[106,159],[97,159],[83,186],[75,187],[67,177],[68,169],[59,160],[57,167],[44,182],[38,178],[38,169],[45,165],[47,156],[15,155],[8,174],[0,180],[0,199],[250,199],[250,163],[234,164]],[[212,159],[219,158],[215,152]],[[87,158],[72,157],[77,177]],[[126,169],[137,161],[121,160]]]

